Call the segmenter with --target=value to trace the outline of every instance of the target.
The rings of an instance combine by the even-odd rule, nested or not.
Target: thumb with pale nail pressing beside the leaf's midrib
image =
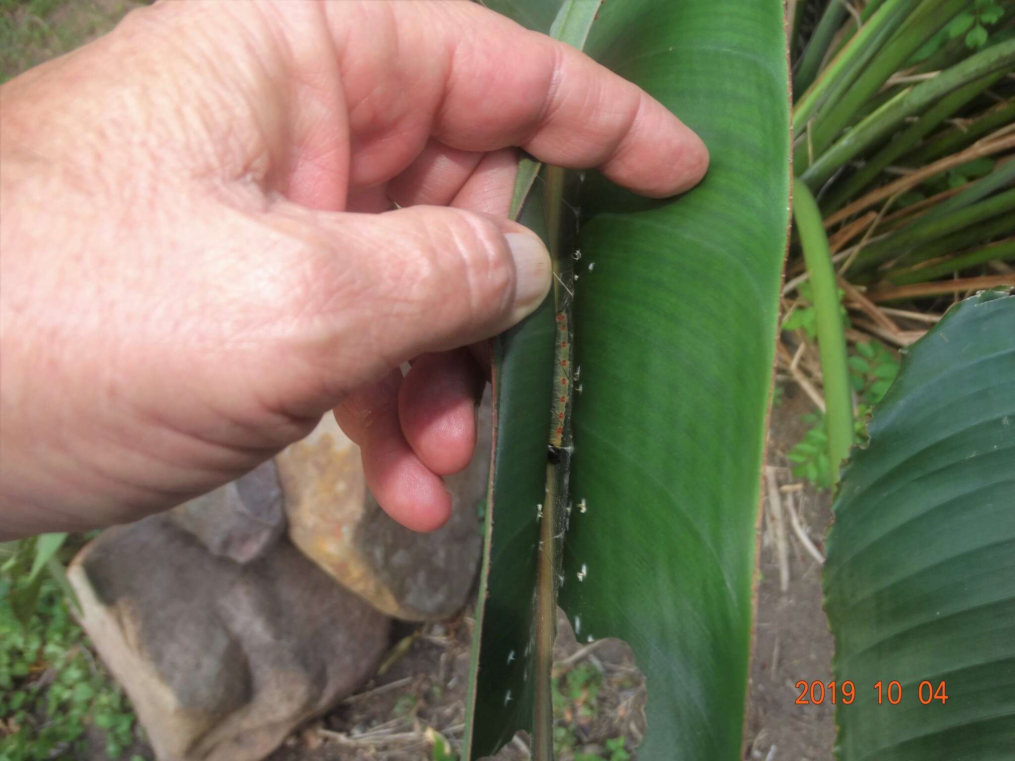
[[[283,213],[304,226],[304,239],[321,241],[311,247],[303,307],[316,333],[310,345],[346,390],[424,352],[490,338],[550,289],[543,243],[506,219],[437,206]]]

